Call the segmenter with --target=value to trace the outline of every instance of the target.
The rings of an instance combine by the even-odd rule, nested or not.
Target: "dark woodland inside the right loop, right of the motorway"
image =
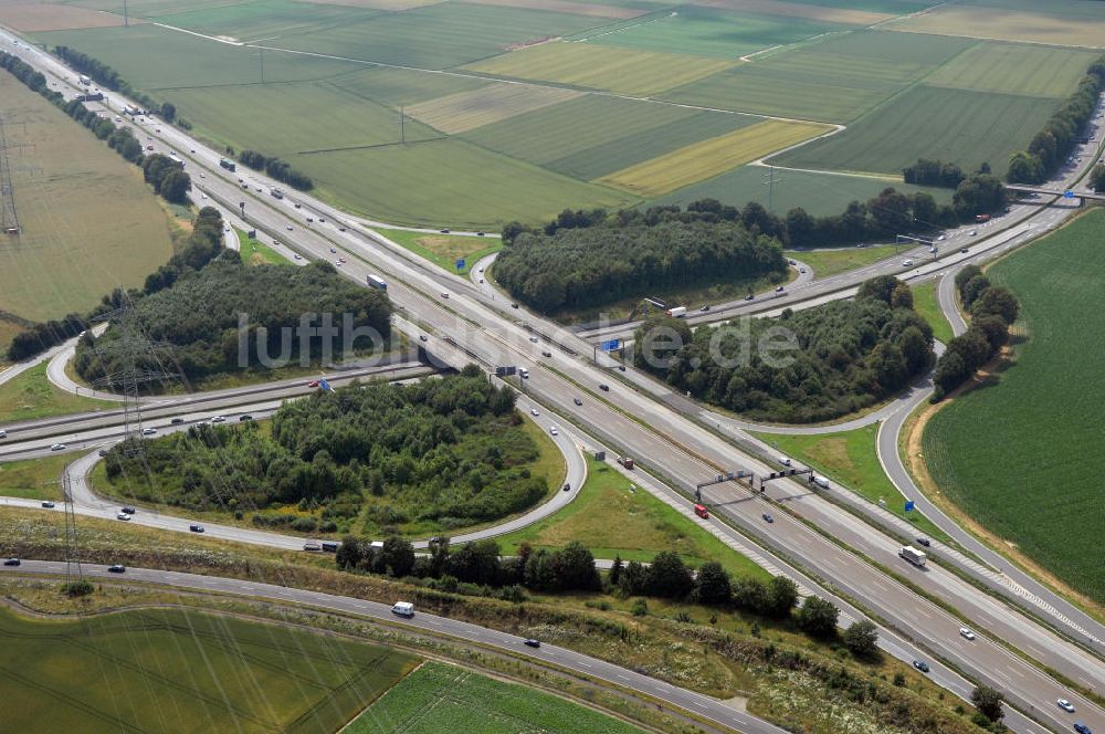
[[[923,374],[934,357],[932,327],[913,311],[908,285],[890,275],[863,283],[854,301],[693,333],[682,321],[656,318],[634,339],[642,369],[707,402],[780,422],[866,408]]]

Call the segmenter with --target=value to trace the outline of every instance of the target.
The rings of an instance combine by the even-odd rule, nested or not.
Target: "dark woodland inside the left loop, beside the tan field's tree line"
[[[186,250],[181,256],[193,254],[198,261],[179,264],[200,265],[206,255],[202,244]],[[176,276],[169,287],[138,296],[135,310],[146,335],[161,345],[156,356],[140,359],[141,367],[155,371],[171,368],[186,379],[240,371],[266,358],[291,361],[304,357],[318,364],[328,345],[333,346],[334,358],[340,357],[346,347],[378,348],[390,333],[391,319],[391,304],[385,292],[339,277],[329,263],[246,268],[233,251],[224,252],[202,270]],[[333,315],[333,325],[345,329],[345,334],[367,327],[378,336],[377,343],[365,336],[352,344],[343,344],[340,335],[335,342],[322,335],[292,338],[292,329],[304,315],[314,314]],[[245,326],[240,323],[242,315],[249,317]],[[343,321],[346,315],[351,319],[349,328]],[[319,324],[322,321],[314,323]],[[77,374],[95,380],[120,370],[122,356],[109,354],[117,331],[113,324],[96,339],[96,348],[78,347],[74,361]],[[96,352],[102,354],[97,356]]]

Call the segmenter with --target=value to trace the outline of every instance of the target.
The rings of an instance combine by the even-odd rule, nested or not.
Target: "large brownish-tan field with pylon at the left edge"
[[[138,168],[6,71],[0,116],[21,227],[0,234],[0,310],[84,312],[169,259],[167,216]]]

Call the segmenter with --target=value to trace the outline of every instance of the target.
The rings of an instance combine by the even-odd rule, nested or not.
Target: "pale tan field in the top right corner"
[[[1011,7],[1021,6],[1019,10]],[[992,2],[940,4],[917,15],[891,21],[883,28],[913,33],[1099,48],[1105,39],[1105,9],[1096,2],[1004,0],[1001,12]]]

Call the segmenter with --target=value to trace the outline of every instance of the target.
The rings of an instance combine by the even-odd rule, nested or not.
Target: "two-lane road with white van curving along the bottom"
[[[65,563],[42,560],[27,560],[20,567],[0,568],[11,574],[31,573],[54,576],[64,575],[67,570]],[[642,675],[635,671],[620,668],[604,660],[591,658],[566,648],[552,644],[543,644],[536,649],[528,648],[524,644],[525,638],[478,627],[470,622],[457,621],[448,617],[417,611],[411,618],[397,618],[392,615],[390,606],[377,601],[215,576],[199,576],[196,574],[147,568],[127,568],[124,574],[112,574],[107,570],[106,566],[92,564],[83,564],[82,570],[88,578],[145,581],[189,590],[250,596],[285,604],[309,605],[323,609],[368,617],[377,621],[417,629],[422,632],[459,638],[506,651],[518,657],[552,663],[586,678],[602,680],[619,688],[644,693],[645,695],[664,701],[669,705],[677,706],[695,716],[706,719],[727,728],[749,732],[750,734],[783,734],[783,730],[768,722],[730,709],[720,701],[701,693],[677,688],[664,681]]]

